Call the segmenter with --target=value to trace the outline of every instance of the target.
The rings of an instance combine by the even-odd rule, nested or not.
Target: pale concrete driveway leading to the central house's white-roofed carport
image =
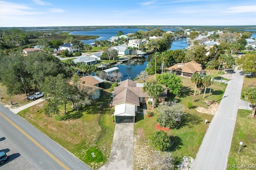
[[[110,160],[99,170],[133,170],[134,124],[116,124]]]

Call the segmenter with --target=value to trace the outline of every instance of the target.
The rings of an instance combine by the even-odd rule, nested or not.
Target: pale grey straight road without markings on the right
[[[235,69],[204,136],[192,170],[224,170],[232,141],[244,76]],[[239,144],[237,144],[239,145]]]

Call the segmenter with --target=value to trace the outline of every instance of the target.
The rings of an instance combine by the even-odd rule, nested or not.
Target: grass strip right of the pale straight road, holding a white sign
[[[236,126],[228,156],[228,170],[245,169],[240,165],[254,165],[256,168],[256,119],[251,118],[252,111],[238,110]],[[239,142],[243,142],[238,153]],[[236,167],[235,165],[239,165]]]

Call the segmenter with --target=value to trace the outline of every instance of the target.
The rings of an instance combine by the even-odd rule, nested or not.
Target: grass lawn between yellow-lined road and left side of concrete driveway
[[[104,86],[109,88],[110,84],[104,83]],[[98,169],[108,162],[114,135],[115,124],[108,108],[109,96],[108,90],[102,91],[94,105],[84,107],[80,112],[72,111],[71,103],[68,103],[66,115],[47,117],[44,115],[44,103],[25,109],[18,115],[93,169]],[[63,106],[59,109],[60,113],[64,112]],[[92,157],[91,152],[96,156]]]

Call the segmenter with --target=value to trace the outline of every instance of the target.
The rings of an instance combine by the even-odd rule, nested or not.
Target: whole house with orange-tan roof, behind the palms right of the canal
[[[173,65],[172,67],[166,68],[168,71],[174,71],[178,75],[191,77],[192,74],[198,72],[201,74],[202,71],[202,65],[197,63],[196,61],[190,61],[188,63],[177,63]]]

